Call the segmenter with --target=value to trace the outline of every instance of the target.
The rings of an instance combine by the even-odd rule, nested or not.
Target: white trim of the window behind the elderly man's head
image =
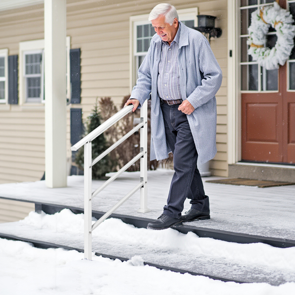
[[[186,8],[186,9],[178,9],[177,10],[179,21],[187,21],[187,20],[194,20],[195,21],[195,27],[198,27],[198,18],[197,15],[199,13],[198,7],[193,8]],[[135,56],[142,56],[144,52],[141,52],[140,54],[136,53],[136,26],[139,25],[147,25],[150,24],[148,21],[148,15],[149,14],[141,14],[141,15],[135,15],[130,16],[129,18],[129,88],[130,93],[132,91],[132,88],[136,82],[136,70],[135,70]]]

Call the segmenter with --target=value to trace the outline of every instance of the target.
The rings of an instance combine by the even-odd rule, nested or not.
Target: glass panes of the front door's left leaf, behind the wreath
[[[241,49],[241,90],[246,91],[277,91],[278,69],[266,70],[253,61],[248,55],[248,27],[251,25],[251,13],[265,5],[271,5],[273,0],[241,0],[240,18],[240,49]],[[275,46],[277,36],[274,29],[270,28],[267,35],[266,46]],[[260,77],[260,78],[259,78]]]

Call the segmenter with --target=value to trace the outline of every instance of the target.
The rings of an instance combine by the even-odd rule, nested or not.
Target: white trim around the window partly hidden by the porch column
[[[67,86],[67,98],[69,96],[70,98],[70,43],[71,39],[69,36],[66,37],[66,59],[67,59],[67,68],[66,68],[66,73],[67,73],[67,81],[66,81],[66,86]],[[26,88],[25,88],[25,69],[24,69],[24,57],[25,53],[28,54],[28,52],[37,52],[37,51],[44,51],[44,39],[39,39],[39,40],[32,40],[32,41],[24,41],[19,43],[19,104],[20,105],[29,105],[29,106],[40,106],[44,104],[45,100],[41,99],[41,102],[39,103],[31,103],[31,102],[26,102]],[[46,54],[46,53],[45,53]],[[43,63],[43,68],[44,68],[44,55],[42,59]],[[42,80],[44,80],[44,76],[41,77]],[[43,87],[44,81],[41,83],[41,98],[44,97],[43,92],[44,92],[44,87]]]

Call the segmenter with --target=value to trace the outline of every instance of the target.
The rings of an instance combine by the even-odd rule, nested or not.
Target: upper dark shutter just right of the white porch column
[[[81,103],[81,49],[70,49],[71,103]]]

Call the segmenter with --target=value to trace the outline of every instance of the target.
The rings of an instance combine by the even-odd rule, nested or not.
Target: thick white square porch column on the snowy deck
[[[66,187],[66,0],[44,0],[45,180]]]

